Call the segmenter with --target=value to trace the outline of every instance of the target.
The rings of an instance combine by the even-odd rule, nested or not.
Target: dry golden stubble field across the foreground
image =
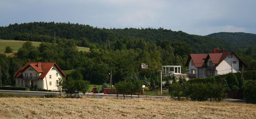
[[[0,118],[256,118],[255,104],[150,99],[0,98]]]

